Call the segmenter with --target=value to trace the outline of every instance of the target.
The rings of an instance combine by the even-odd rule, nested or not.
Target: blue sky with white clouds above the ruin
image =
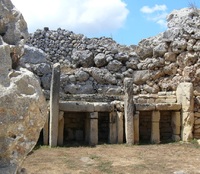
[[[120,44],[137,44],[167,29],[165,17],[174,9],[199,0],[12,0],[29,32],[63,28],[87,37],[112,37]]]

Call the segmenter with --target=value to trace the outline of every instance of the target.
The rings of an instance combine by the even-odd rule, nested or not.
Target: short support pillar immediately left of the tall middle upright
[[[124,141],[124,113],[117,112],[117,143],[121,144]]]

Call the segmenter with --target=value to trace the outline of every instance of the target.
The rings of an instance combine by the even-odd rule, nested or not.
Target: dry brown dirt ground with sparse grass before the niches
[[[41,146],[28,155],[22,167],[28,174],[200,174],[200,146]]]

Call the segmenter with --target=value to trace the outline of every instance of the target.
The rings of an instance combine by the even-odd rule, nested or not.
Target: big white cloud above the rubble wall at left
[[[110,32],[123,27],[129,13],[122,0],[12,0],[30,32],[65,28],[83,34]]]

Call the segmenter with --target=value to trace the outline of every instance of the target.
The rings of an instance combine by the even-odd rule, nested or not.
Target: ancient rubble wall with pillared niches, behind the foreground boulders
[[[31,34],[20,64],[50,102],[44,144],[200,138],[199,14],[175,10],[165,32],[131,46],[60,28]]]

